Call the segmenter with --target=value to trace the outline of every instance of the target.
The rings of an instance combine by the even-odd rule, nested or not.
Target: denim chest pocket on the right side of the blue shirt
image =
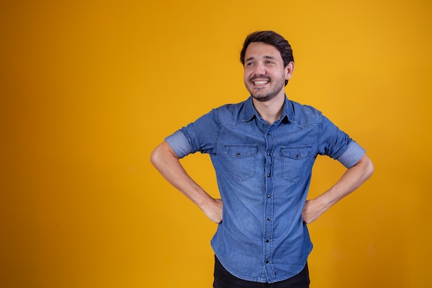
[[[282,176],[285,180],[298,182],[305,173],[305,164],[311,156],[311,145],[282,147]]]

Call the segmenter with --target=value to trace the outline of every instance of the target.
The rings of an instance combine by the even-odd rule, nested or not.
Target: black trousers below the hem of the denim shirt
[[[275,282],[275,283],[259,283],[239,279],[233,276],[215,257],[215,282],[214,288],[308,288],[309,287],[309,270],[308,265],[292,278]]]

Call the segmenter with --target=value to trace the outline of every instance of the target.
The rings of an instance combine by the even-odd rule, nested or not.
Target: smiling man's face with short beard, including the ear
[[[264,42],[252,42],[244,55],[244,84],[258,101],[284,96],[285,80],[291,78],[293,62],[284,67],[279,50]]]

